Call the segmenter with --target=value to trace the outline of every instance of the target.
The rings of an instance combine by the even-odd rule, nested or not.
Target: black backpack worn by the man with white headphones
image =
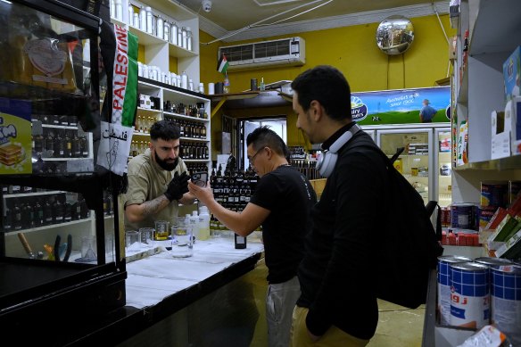
[[[386,302],[416,309],[426,303],[429,275],[436,269],[438,257],[443,252],[440,213],[436,231],[430,219],[439,206],[437,202],[429,202],[426,207],[418,191],[394,168],[393,161],[403,148],[389,159],[378,147],[361,147],[381,153],[389,175],[385,227],[376,245],[381,260],[376,275],[376,296]],[[356,151],[355,148],[360,146],[352,150]]]

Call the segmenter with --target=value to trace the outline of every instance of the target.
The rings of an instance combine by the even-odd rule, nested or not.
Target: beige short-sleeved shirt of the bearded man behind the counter
[[[178,172],[187,171],[186,164],[179,158],[178,166],[173,171],[161,169],[152,159],[150,148],[144,154],[139,154],[128,161],[128,190],[123,194],[123,206],[135,203],[151,201],[164,194],[170,181]],[[137,230],[140,227],[154,227],[155,220],[167,220],[171,227],[178,217],[178,201],[174,200],[170,204],[140,222],[131,223],[125,215],[125,230]]]

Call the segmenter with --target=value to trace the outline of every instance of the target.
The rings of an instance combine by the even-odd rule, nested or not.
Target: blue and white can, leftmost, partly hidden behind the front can
[[[451,322],[451,271],[450,265],[469,262],[472,259],[458,255],[442,255],[438,257],[438,311],[439,322],[444,326]]]

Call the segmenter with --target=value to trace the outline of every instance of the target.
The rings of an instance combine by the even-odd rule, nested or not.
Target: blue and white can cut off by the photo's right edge
[[[492,324],[509,336],[513,346],[521,345],[521,266],[492,267]]]

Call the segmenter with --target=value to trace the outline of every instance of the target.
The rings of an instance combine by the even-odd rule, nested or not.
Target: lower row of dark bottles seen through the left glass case
[[[4,199],[4,232],[87,219],[90,211],[81,194],[49,194]]]

